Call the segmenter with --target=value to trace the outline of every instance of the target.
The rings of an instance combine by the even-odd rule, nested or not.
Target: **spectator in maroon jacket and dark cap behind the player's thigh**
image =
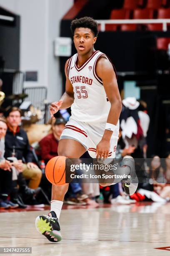
[[[66,121],[63,118],[57,118],[52,124],[52,133],[48,134],[39,142],[40,156],[45,164],[54,156],[58,156],[57,149],[60,135],[65,128]]]

